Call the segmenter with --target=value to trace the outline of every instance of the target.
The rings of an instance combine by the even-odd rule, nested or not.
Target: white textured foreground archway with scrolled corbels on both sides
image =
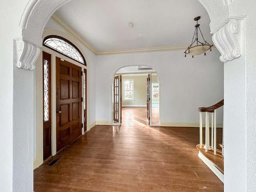
[[[44,26],[50,16],[57,10],[62,4],[68,2],[69,0],[55,0],[55,1],[46,1],[46,0],[30,0],[28,2],[28,5],[26,6],[23,16],[21,18],[20,22],[20,38],[14,39],[14,65],[17,65],[19,68],[23,68],[26,70],[34,70],[34,62],[36,58],[38,57],[39,48],[42,45],[42,31],[44,29]],[[223,62],[227,62],[230,60],[233,60],[234,58],[238,58],[241,54],[244,54],[242,58],[239,58],[236,61],[229,62],[228,64],[234,64],[234,68],[236,67],[239,70],[239,67],[241,65],[245,65],[248,70],[254,69],[253,66],[250,64],[252,61],[248,61],[248,66],[246,65],[246,56],[252,53],[252,50],[249,48],[247,50],[247,53],[241,52],[242,50],[245,50],[244,48],[244,42],[246,40],[244,28],[245,28],[245,16],[241,15],[234,15],[234,12],[236,10],[239,10],[244,2],[236,2],[237,4],[234,4],[235,0],[199,0],[199,2],[206,8],[209,16],[210,16],[210,29],[211,33],[214,34],[213,40],[214,44],[218,48],[218,50],[221,52],[221,60]],[[251,1],[253,5],[255,5],[255,2]],[[246,5],[244,5],[246,7]],[[247,8],[250,7],[250,3],[248,3]],[[231,10],[230,10],[231,9]],[[250,11],[250,10],[249,10]],[[246,9],[241,10],[240,12],[246,13]],[[239,12],[239,13],[240,13]],[[250,14],[252,14],[252,18],[254,14],[250,11]],[[253,23],[252,19],[249,19],[248,24]],[[251,27],[252,29],[253,27]],[[247,42],[248,46],[250,46],[250,42]],[[248,48],[248,47],[246,47]],[[249,57],[249,56],[248,56]],[[255,142],[253,142],[253,137],[255,136],[255,133],[252,132],[251,136],[246,138],[247,132],[250,130],[252,131],[252,125],[255,123],[255,121],[249,122],[250,125],[248,128],[246,127],[247,121],[246,115],[248,113],[249,117],[252,117],[253,114],[253,107],[255,104],[252,102],[252,109],[247,110],[245,108],[245,105],[247,103],[247,100],[253,100],[250,96],[245,96],[245,94],[241,94],[242,102],[238,102],[239,96],[235,97],[236,95],[236,88],[229,88],[228,86],[232,86],[231,82],[232,80],[235,80],[235,77],[230,75],[233,69],[227,68],[226,69],[226,75],[228,75],[228,79],[225,82],[224,89],[225,90],[225,128],[227,129],[227,132],[230,133],[230,126],[237,126],[235,123],[238,122],[239,126],[241,126],[240,131],[236,129],[236,134],[234,134],[234,137],[232,138],[235,141],[232,141],[230,138],[226,141],[227,152],[228,150],[232,151],[230,148],[234,144],[234,148],[236,148],[236,152],[240,155],[238,160],[236,160],[236,154],[232,154],[231,152],[226,154],[225,157],[225,191],[246,191],[248,188],[249,190],[253,190],[253,186],[255,184],[255,179],[251,180],[250,182],[246,183],[250,176],[253,176],[253,172],[248,170],[248,166],[252,166],[253,162],[250,162],[250,160],[247,160],[245,157],[251,157],[253,159],[252,154],[244,149],[244,147],[251,147],[254,148],[256,146]],[[243,70],[244,71],[244,70]],[[239,74],[239,73],[238,73]],[[16,76],[17,75],[17,76]],[[34,125],[34,107],[32,104],[33,100],[33,82],[34,82],[34,76],[32,73],[27,73],[24,71],[17,71],[17,69],[14,69],[14,84],[17,83],[13,88],[13,95],[15,97],[18,97],[17,95],[20,95],[23,100],[22,102],[14,102],[14,110],[17,110],[13,113],[13,118],[16,119],[13,124],[13,132],[18,131],[16,126],[19,126],[18,121],[22,120],[22,123],[20,124],[19,130],[24,130],[24,134],[22,136],[14,136],[14,140],[12,141],[13,146],[13,154],[14,154],[14,160],[13,160],[13,189],[14,191],[17,191],[19,189],[19,185],[22,184],[23,191],[32,191],[33,186],[33,165],[32,165],[32,157],[33,157],[33,125]],[[22,78],[24,77],[24,78]],[[225,77],[225,74],[224,74]],[[229,77],[231,77],[229,79]],[[237,77],[237,76],[236,76]],[[245,82],[246,75],[240,76],[242,79],[242,83]],[[19,79],[22,79],[23,82],[19,83]],[[256,78],[252,75],[250,76],[249,82],[245,82],[244,84],[238,84],[244,92],[250,94],[254,94],[254,91],[247,92],[248,83],[252,83],[253,80]],[[241,81],[241,80],[240,80]],[[233,82],[232,82],[233,83]],[[253,84],[253,83],[252,83]],[[28,92],[28,94],[24,94],[24,90]],[[230,93],[230,94],[229,94]],[[232,103],[233,102],[233,103]],[[241,103],[241,104],[240,104]],[[232,111],[232,107],[234,104],[238,104],[238,106],[241,110],[240,113],[238,113],[237,116],[230,116],[227,112]],[[250,107],[249,107],[250,108]],[[21,116],[19,113],[22,112],[22,109],[26,109],[26,115]],[[242,114],[242,117],[240,118],[239,115]],[[232,120],[236,119],[238,117],[238,120],[232,122]],[[26,120],[23,120],[25,118]],[[242,120],[239,120],[242,119]],[[227,125],[227,126],[226,126]],[[240,136],[242,135],[242,140],[236,144],[236,140],[239,140]],[[246,139],[245,139],[246,138]],[[249,143],[252,145],[250,146]],[[240,146],[240,144],[242,146]],[[19,147],[17,147],[19,146]],[[20,150],[22,149],[22,150]],[[233,162],[232,162],[233,160]],[[23,167],[18,167],[17,164],[23,163]],[[230,165],[231,164],[231,165]],[[232,165],[234,167],[232,167]],[[239,166],[240,165],[240,166]],[[252,166],[254,168],[255,166]],[[237,173],[232,170],[234,168],[237,168]],[[27,173],[26,176],[24,176],[24,172]],[[241,176],[240,176],[241,175]],[[234,190],[233,190],[234,189]]]

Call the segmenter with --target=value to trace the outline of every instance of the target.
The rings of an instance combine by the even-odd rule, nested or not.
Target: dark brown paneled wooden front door
[[[56,57],[57,151],[82,134],[82,68]]]

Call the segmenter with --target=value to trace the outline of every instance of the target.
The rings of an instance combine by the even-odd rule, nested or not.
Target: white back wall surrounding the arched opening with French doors
[[[184,57],[183,51],[96,56],[96,119],[111,120],[110,79],[121,67],[147,65],[160,77],[161,122],[198,122],[198,107],[223,99],[223,63],[216,48],[207,55]],[[217,114],[222,123],[222,111]]]

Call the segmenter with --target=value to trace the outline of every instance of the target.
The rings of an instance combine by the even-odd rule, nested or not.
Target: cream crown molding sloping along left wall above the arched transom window
[[[84,46],[86,46],[89,50],[91,50],[94,54],[96,54],[96,50],[86,42],[80,35],[78,35],[66,22],[64,22],[61,18],[59,18],[56,14],[52,14],[52,20],[56,22],[59,26],[64,28],[71,36],[79,40]]]

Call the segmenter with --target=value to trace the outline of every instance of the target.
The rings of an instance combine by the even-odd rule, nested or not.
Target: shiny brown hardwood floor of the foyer
[[[35,192],[222,192],[198,157],[199,128],[149,127],[123,110],[121,126],[95,126],[34,171]],[[53,157],[55,158],[55,157]]]

